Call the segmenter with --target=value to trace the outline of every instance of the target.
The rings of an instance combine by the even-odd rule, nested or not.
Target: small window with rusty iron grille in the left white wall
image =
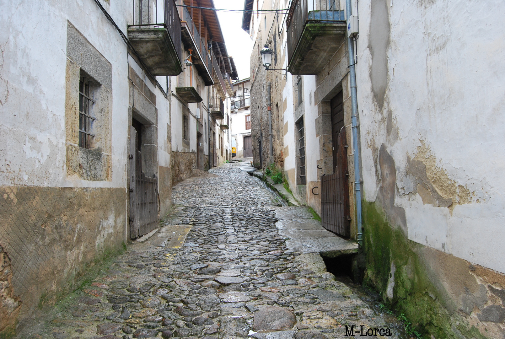
[[[85,149],[91,148],[93,121],[91,99],[93,93],[93,81],[91,78],[81,76],[79,79],[79,146]]]

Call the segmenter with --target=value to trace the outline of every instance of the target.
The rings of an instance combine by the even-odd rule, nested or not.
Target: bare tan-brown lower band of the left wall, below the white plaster
[[[0,187],[0,336],[122,248],[125,188]]]

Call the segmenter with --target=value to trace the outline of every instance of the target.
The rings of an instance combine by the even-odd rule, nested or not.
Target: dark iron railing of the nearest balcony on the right
[[[294,0],[286,19],[288,62],[308,23],[335,23],[344,19],[337,0]]]

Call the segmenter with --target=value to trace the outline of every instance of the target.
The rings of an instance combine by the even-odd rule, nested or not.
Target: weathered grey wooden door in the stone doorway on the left
[[[137,130],[130,127],[130,238],[149,233],[158,226],[158,180],[142,172],[142,154]]]

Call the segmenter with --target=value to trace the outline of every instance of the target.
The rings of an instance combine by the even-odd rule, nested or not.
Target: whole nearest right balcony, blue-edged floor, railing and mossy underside
[[[289,73],[319,74],[345,41],[346,28],[335,0],[293,1],[287,18]]]

